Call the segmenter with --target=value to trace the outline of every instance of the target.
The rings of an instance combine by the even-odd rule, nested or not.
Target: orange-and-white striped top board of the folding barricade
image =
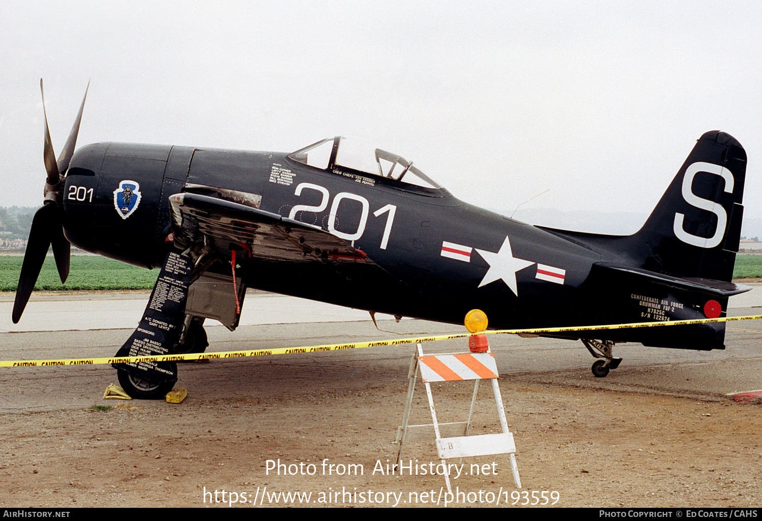
[[[498,378],[498,366],[492,353],[419,356],[418,360],[424,382]]]

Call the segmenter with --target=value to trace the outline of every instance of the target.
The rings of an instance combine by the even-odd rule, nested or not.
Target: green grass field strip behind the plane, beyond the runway
[[[0,256],[0,291],[16,291],[18,274],[24,257]],[[113,261],[106,257],[72,257],[69,279],[62,284],[58,278],[53,257],[46,257],[43,270],[34,285],[40,290],[75,289],[152,289],[158,270],[146,270]],[[762,277],[762,255],[738,255],[735,257],[735,278]]]

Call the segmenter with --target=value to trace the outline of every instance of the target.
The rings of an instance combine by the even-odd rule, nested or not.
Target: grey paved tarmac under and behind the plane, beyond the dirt
[[[730,315],[754,315],[762,306],[760,284],[731,301]],[[10,322],[12,296],[0,296],[5,317],[0,332],[2,360],[40,360],[112,356],[139,321],[148,296],[35,296],[21,324]],[[740,307],[739,307],[740,306]],[[242,326],[230,332],[207,325],[207,352],[270,347],[299,347],[419,334],[462,333],[463,327],[419,320],[399,323],[379,316],[378,331],[366,312],[304,299],[250,292]],[[7,323],[6,323],[7,322]],[[507,382],[522,375],[538,383],[581,388],[647,392],[706,400],[727,400],[727,393],[762,389],[762,322],[728,323],[726,350],[687,351],[618,344],[624,361],[605,379],[590,371],[592,357],[580,342],[548,338],[490,337],[498,369]],[[463,339],[424,346],[428,352],[463,350]],[[258,356],[248,359],[183,363],[178,386],[208,399],[250,396],[261,392],[255,381],[267,366],[278,382],[325,379],[328,385],[367,385],[375,379],[404,382],[414,347],[373,347],[329,353]],[[0,411],[5,413],[86,408],[104,403],[104,388],[116,382],[110,366],[0,368]],[[505,381],[504,381],[505,382]],[[256,389],[256,390],[255,390]]]

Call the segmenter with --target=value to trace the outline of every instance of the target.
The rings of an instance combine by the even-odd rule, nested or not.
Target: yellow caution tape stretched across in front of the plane
[[[744,317],[696,318],[693,320],[674,320],[663,322],[636,322],[632,324],[609,324],[597,326],[568,326],[565,328],[533,328],[533,329],[497,329],[484,331],[484,334],[549,334],[576,333],[578,331],[604,331],[609,329],[658,328],[670,325],[706,324],[709,322],[731,322],[738,320],[758,320],[762,315],[747,315]],[[760,330],[762,333],[762,330]],[[435,337],[396,338],[393,340],[371,340],[369,342],[354,342],[351,344],[324,344],[321,346],[304,347],[274,347],[271,349],[255,349],[241,351],[221,351],[219,353],[172,354],[159,356],[112,356],[110,358],[66,358],[59,360],[2,360],[0,367],[24,366],[95,366],[112,363],[136,362],[171,362],[180,360],[210,360],[213,358],[241,358],[244,356],[261,356],[291,353],[315,353],[317,351],[336,351],[342,349],[357,349],[360,347],[395,346],[398,344],[418,344],[418,342],[433,342],[434,340],[450,340],[452,338],[470,337],[470,333],[443,334]]]

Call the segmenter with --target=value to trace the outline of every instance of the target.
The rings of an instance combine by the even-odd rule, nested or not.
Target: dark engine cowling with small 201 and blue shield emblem
[[[170,232],[168,197],[184,187],[193,150],[115,142],[78,149],[59,199],[66,238],[136,266],[161,264]]]

